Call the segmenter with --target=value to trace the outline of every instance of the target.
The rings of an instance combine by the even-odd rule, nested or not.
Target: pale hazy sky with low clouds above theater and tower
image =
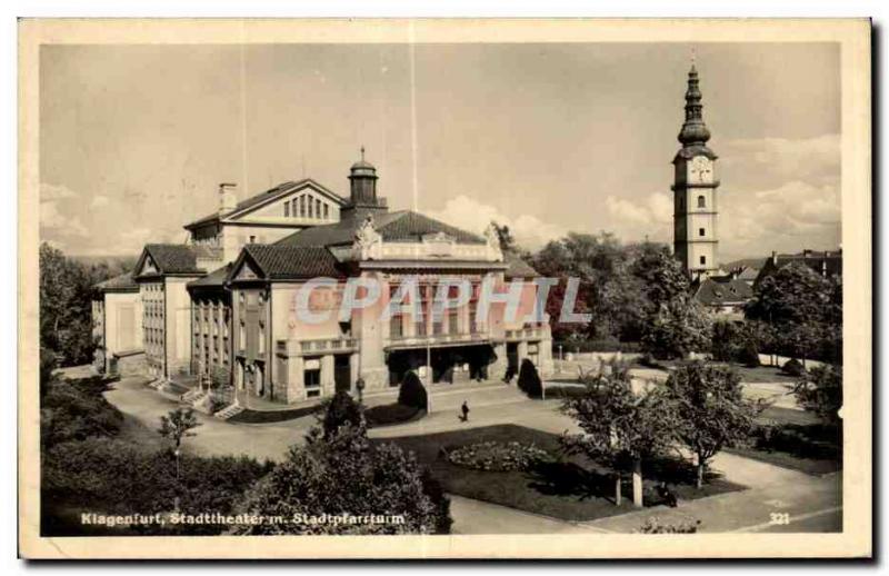
[[[840,242],[832,43],[44,46],[41,239],[80,256],[310,177],[348,196],[364,146],[392,209],[536,249],[672,241],[693,53],[719,156],[720,260]]]

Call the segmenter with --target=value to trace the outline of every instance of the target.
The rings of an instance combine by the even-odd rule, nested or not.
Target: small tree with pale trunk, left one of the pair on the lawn
[[[610,460],[615,503],[621,504],[622,473],[632,469],[633,504],[642,506],[642,460],[672,447],[679,420],[672,396],[663,387],[633,390],[626,367],[588,375],[582,395],[566,399],[562,411],[577,420],[583,434],[566,435],[569,453]]]

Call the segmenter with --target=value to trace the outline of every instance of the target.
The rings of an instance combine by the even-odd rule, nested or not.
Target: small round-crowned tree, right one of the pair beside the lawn
[[[731,368],[693,363],[667,378],[679,417],[679,438],[697,457],[698,488],[722,448],[750,434],[757,406],[743,398],[741,379]]]

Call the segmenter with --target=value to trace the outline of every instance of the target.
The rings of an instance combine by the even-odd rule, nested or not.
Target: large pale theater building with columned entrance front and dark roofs
[[[148,374],[212,383],[236,404],[292,404],[357,391],[359,379],[368,394],[386,390],[409,370],[429,385],[500,379],[525,358],[551,371],[548,322],[527,319],[537,272],[503,255],[493,230],[390,210],[363,151],[349,180],[348,199],[303,179],[240,202],[224,183],[218,211],[186,225],[187,244],[146,246],[132,282]],[[503,302],[480,314],[485,278],[495,294],[515,291],[515,319]],[[444,297],[466,295],[439,315],[442,279]],[[341,318],[343,298],[368,296],[350,295],[350,281],[376,282],[380,295]],[[402,284],[417,290],[389,317]]]

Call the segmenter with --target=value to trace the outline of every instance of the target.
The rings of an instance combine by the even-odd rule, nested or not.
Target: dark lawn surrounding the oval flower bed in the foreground
[[[392,441],[413,451],[446,491],[468,498],[576,522],[636,509],[630,501],[632,488],[629,478],[622,484],[623,503],[615,506],[615,479],[610,469],[585,457],[562,457],[558,436],[522,426],[488,426],[373,441]],[[442,451],[483,441],[533,444],[547,450],[552,458],[529,471],[481,471],[450,464]],[[695,470],[676,460],[643,463],[643,474],[649,476],[646,479],[647,488],[665,480],[680,500],[743,488],[710,475],[708,483],[698,490],[695,488]],[[647,495],[647,505],[658,504]]]

